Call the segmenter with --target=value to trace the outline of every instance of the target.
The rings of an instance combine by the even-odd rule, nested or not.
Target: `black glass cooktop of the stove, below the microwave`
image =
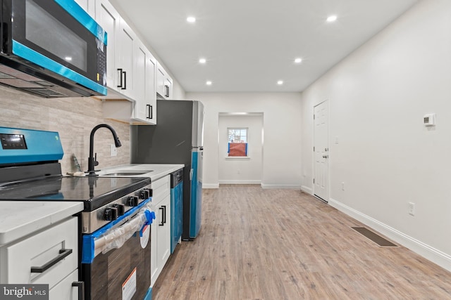
[[[0,185],[0,200],[83,201],[92,211],[150,184],[142,177],[63,177]]]

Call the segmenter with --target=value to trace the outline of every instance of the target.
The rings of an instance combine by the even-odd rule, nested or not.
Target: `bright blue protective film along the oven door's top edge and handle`
[[[140,204],[138,204],[137,207],[134,207],[130,209],[129,211],[125,212],[123,216],[119,217],[115,221],[111,221],[110,223],[106,224],[104,227],[99,228],[98,230],[94,231],[94,233],[91,233],[90,235],[83,235],[82,236],[82,263],[92,263],[94,261],[95,257],[95,240],[106,233],[108,230],[111,230],[114,226],[116,226],[118,223],[121,223],[123,219],[128,218],[128,216],[131,216],[132,214],[135,214],[137,211],[142,209],[144,205],[152,201],[152,197],[147,198]],[[147,218],[147,223],[152,224],[152,219],[155,219],[155,213],[152,211],[153,214],[148,214],[148,210],[144,211],[144,214]],[[152,218],[153,216],[153,218]]]

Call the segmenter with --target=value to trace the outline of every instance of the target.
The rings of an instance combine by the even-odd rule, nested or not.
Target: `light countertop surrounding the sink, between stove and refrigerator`
[[[118,172],[140,172],[149,171],[137,175],[125,175],[131,177],[150,177],[151,181],[156,181],[159,178],[171,174],[173,171],[182,169],[184,164],[123,164],[115,167],[102,168],[98,171],[99,176],[106,176],[105,174],[118,173]]]

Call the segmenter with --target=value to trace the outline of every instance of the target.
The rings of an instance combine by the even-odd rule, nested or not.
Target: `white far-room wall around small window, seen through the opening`
[[[263,117],[263,114],[219,115],[219,183],[261,184]],[[228,157],[228,128],[247,128],[247,157]]]

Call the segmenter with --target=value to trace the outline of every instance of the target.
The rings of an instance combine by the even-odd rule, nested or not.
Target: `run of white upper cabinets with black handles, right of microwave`
[[[77,0],[80,2],[92,0]],[[158,63],[109,0],[95,0],[95,19],[108,34],[104,117],[130,124],[156,124]],[[163,68],[161,98],[171,98],[172,79]]]

